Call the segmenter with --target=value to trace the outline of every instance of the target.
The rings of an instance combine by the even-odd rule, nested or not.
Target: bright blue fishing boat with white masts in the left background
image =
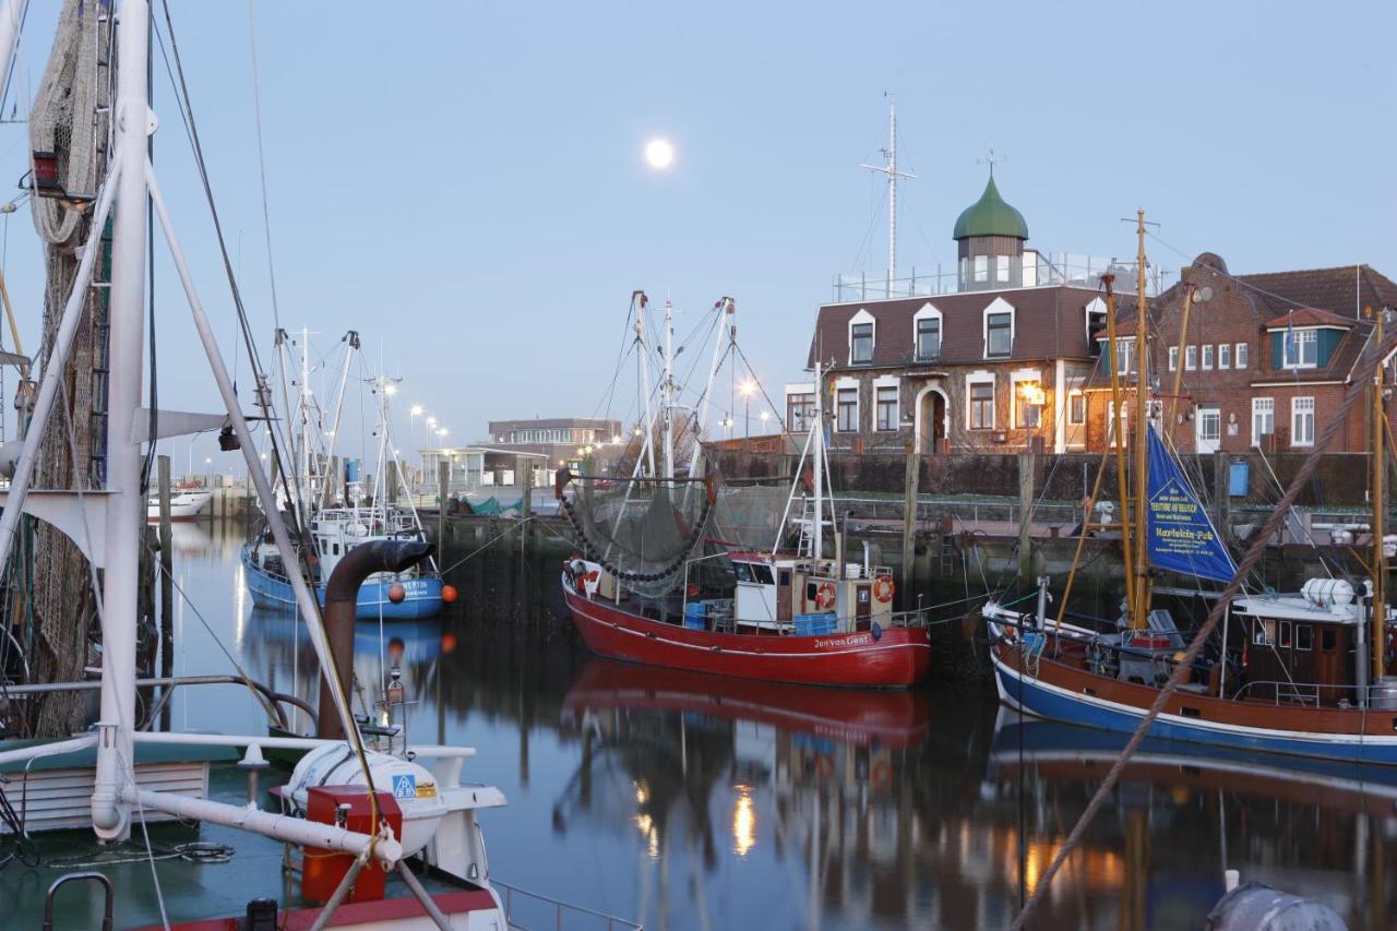
[[[395,382],[386,377],[372,380],[373,393],[380,401],[379,424],[374,429],[379,446],[373,488],[366,488],[360,481],[358,460],[345,463],[342,478],[331,474],[331,467],[337,461],[334,443],[341,433],[344,419],[345,384],[353,352],[359,348],[359,335],[352,330],[345,335],[344,365],[327,429],[319,428],[323,417],[310,390],[309,335],[309,331],[302,330],[300,391],[292,418],[296,425],[292,440],[296,472],[293,479],[288,479],[286,491],[296,512],[298,526],[309,528],[309,549],[314,556],[309,561],[310,577],[317,583],[314,589],[323,604],[326,596],[320,583],[328,579],[339,561],[356,547],[379,540],[425,541],[426,531],[411,502],[398,505],[388,500],[393,496],[390,485],[394,489],[407,486],[402,464],[390,435],[390,400],[397,391]],[[278,347],[284,347],[285,342],[284,334],[278,334]],[[330,443],[321,452],[324,439]],[[344,500],[334,500],[332,495],[341,488]],[[296,607],[296,593],[288,579],[288,561],[270,530],[250,540],[243,547],[240,559],[243,579],[254,604],[288,611]],[[443,583],[434,559],[429,556],[425,565],[412,566],[401,573],[374,573],[365,580],[359,589],[358,616],[386,621],[432,618],[440,614],[444,604],[454,600],[455,590]]]

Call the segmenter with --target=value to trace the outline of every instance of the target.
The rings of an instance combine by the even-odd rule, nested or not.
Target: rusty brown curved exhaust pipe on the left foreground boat
[[[436,551],[429,542],[416,540],[376,540],[359,544],[339,561],[326,583],[326,639],[330,656],[339,672],[339,688],[349,695],[353,679],[353,619],[359,602],[359,586],[376,572],[405,572]],[[344,739],[344,724],[335,714],[330,684],[320,679],[320,720],[316,737]]]

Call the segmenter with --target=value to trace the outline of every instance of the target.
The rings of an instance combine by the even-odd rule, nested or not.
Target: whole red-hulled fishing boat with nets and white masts
[[[644,294],[636,294],[644,365]],[[731,299],[725,301],[715,308],[732,313]],[[866,554],[861,562],[845,559],[824,452],[821,391],[814,403],[817,426],[806,438],[775,540],[764,548],[733,545],[704,533],[718,492],[712,477],[696,467],[698,452],[689,474],[675,478],[673,355],[666,305],[661,408],[647,411],[643,447],[630,481],[615,492],[620,499],[613,499],[612,512],[597,505],[599,477],[580,477],[581,489],[571,496],[566,492],[573,475],[560,470],[556,478],[555,496],[584,548],[564,562],[562,587],[587,647],[615,660],[773,682],[851,688],[919,682],[930,663],[925,615],[893,611],[888,569],[873,565]],[[718,358],[715,349],[704,397],[711,394]],[[817,383],[821,375],[816,365]],[[701,414],[698,428],[701,435]],[[645,477],[657,432],[662,470]],[[700,450],[701,443],[694,447]],[[813,496],[798,499],[806,463]],[[698,488],[701,493],[693,493]],[[800,513],[792,519],[795,507]],[[788,545],[792,538],[793,547]],[[711,551],[700,552],[701,542]]]

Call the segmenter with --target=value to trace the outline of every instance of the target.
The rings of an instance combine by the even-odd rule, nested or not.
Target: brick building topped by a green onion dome
[[[953,238],[954,281],[819,309],[809,366],[830,368],[831,446],[1084,449],[1094,333],[1106,313],[1097,280],[1108,263],[1067,267],[1027,249],[1028,225],[993,176]],[[807,429],[813,404],[813,383],[788,384],[788,428]]]

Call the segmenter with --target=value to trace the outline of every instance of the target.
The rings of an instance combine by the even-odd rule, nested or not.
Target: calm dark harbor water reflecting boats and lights
[[[240,544],[232,521],[176,526],[175,672],[231,671],[222,643],[314,700],[305,628],[253,608]],[[450,572],[462,597],[441,618],[360,621],[356,703],[401,639],[409,739],[475,746],[465,777],[509,798],[483,816],[492,875],[647,928],[1007,927],[1123,744],[964,684],[852,692],[604,661],[557,579],[556,559],[486,552]],[[176,692],[170,724],[265,716],[200,686]],[[1394,846],[1397,773],[1147,742],[1035,927],[1201,927],[1232,868],[1355,931],[1390,928]]]

